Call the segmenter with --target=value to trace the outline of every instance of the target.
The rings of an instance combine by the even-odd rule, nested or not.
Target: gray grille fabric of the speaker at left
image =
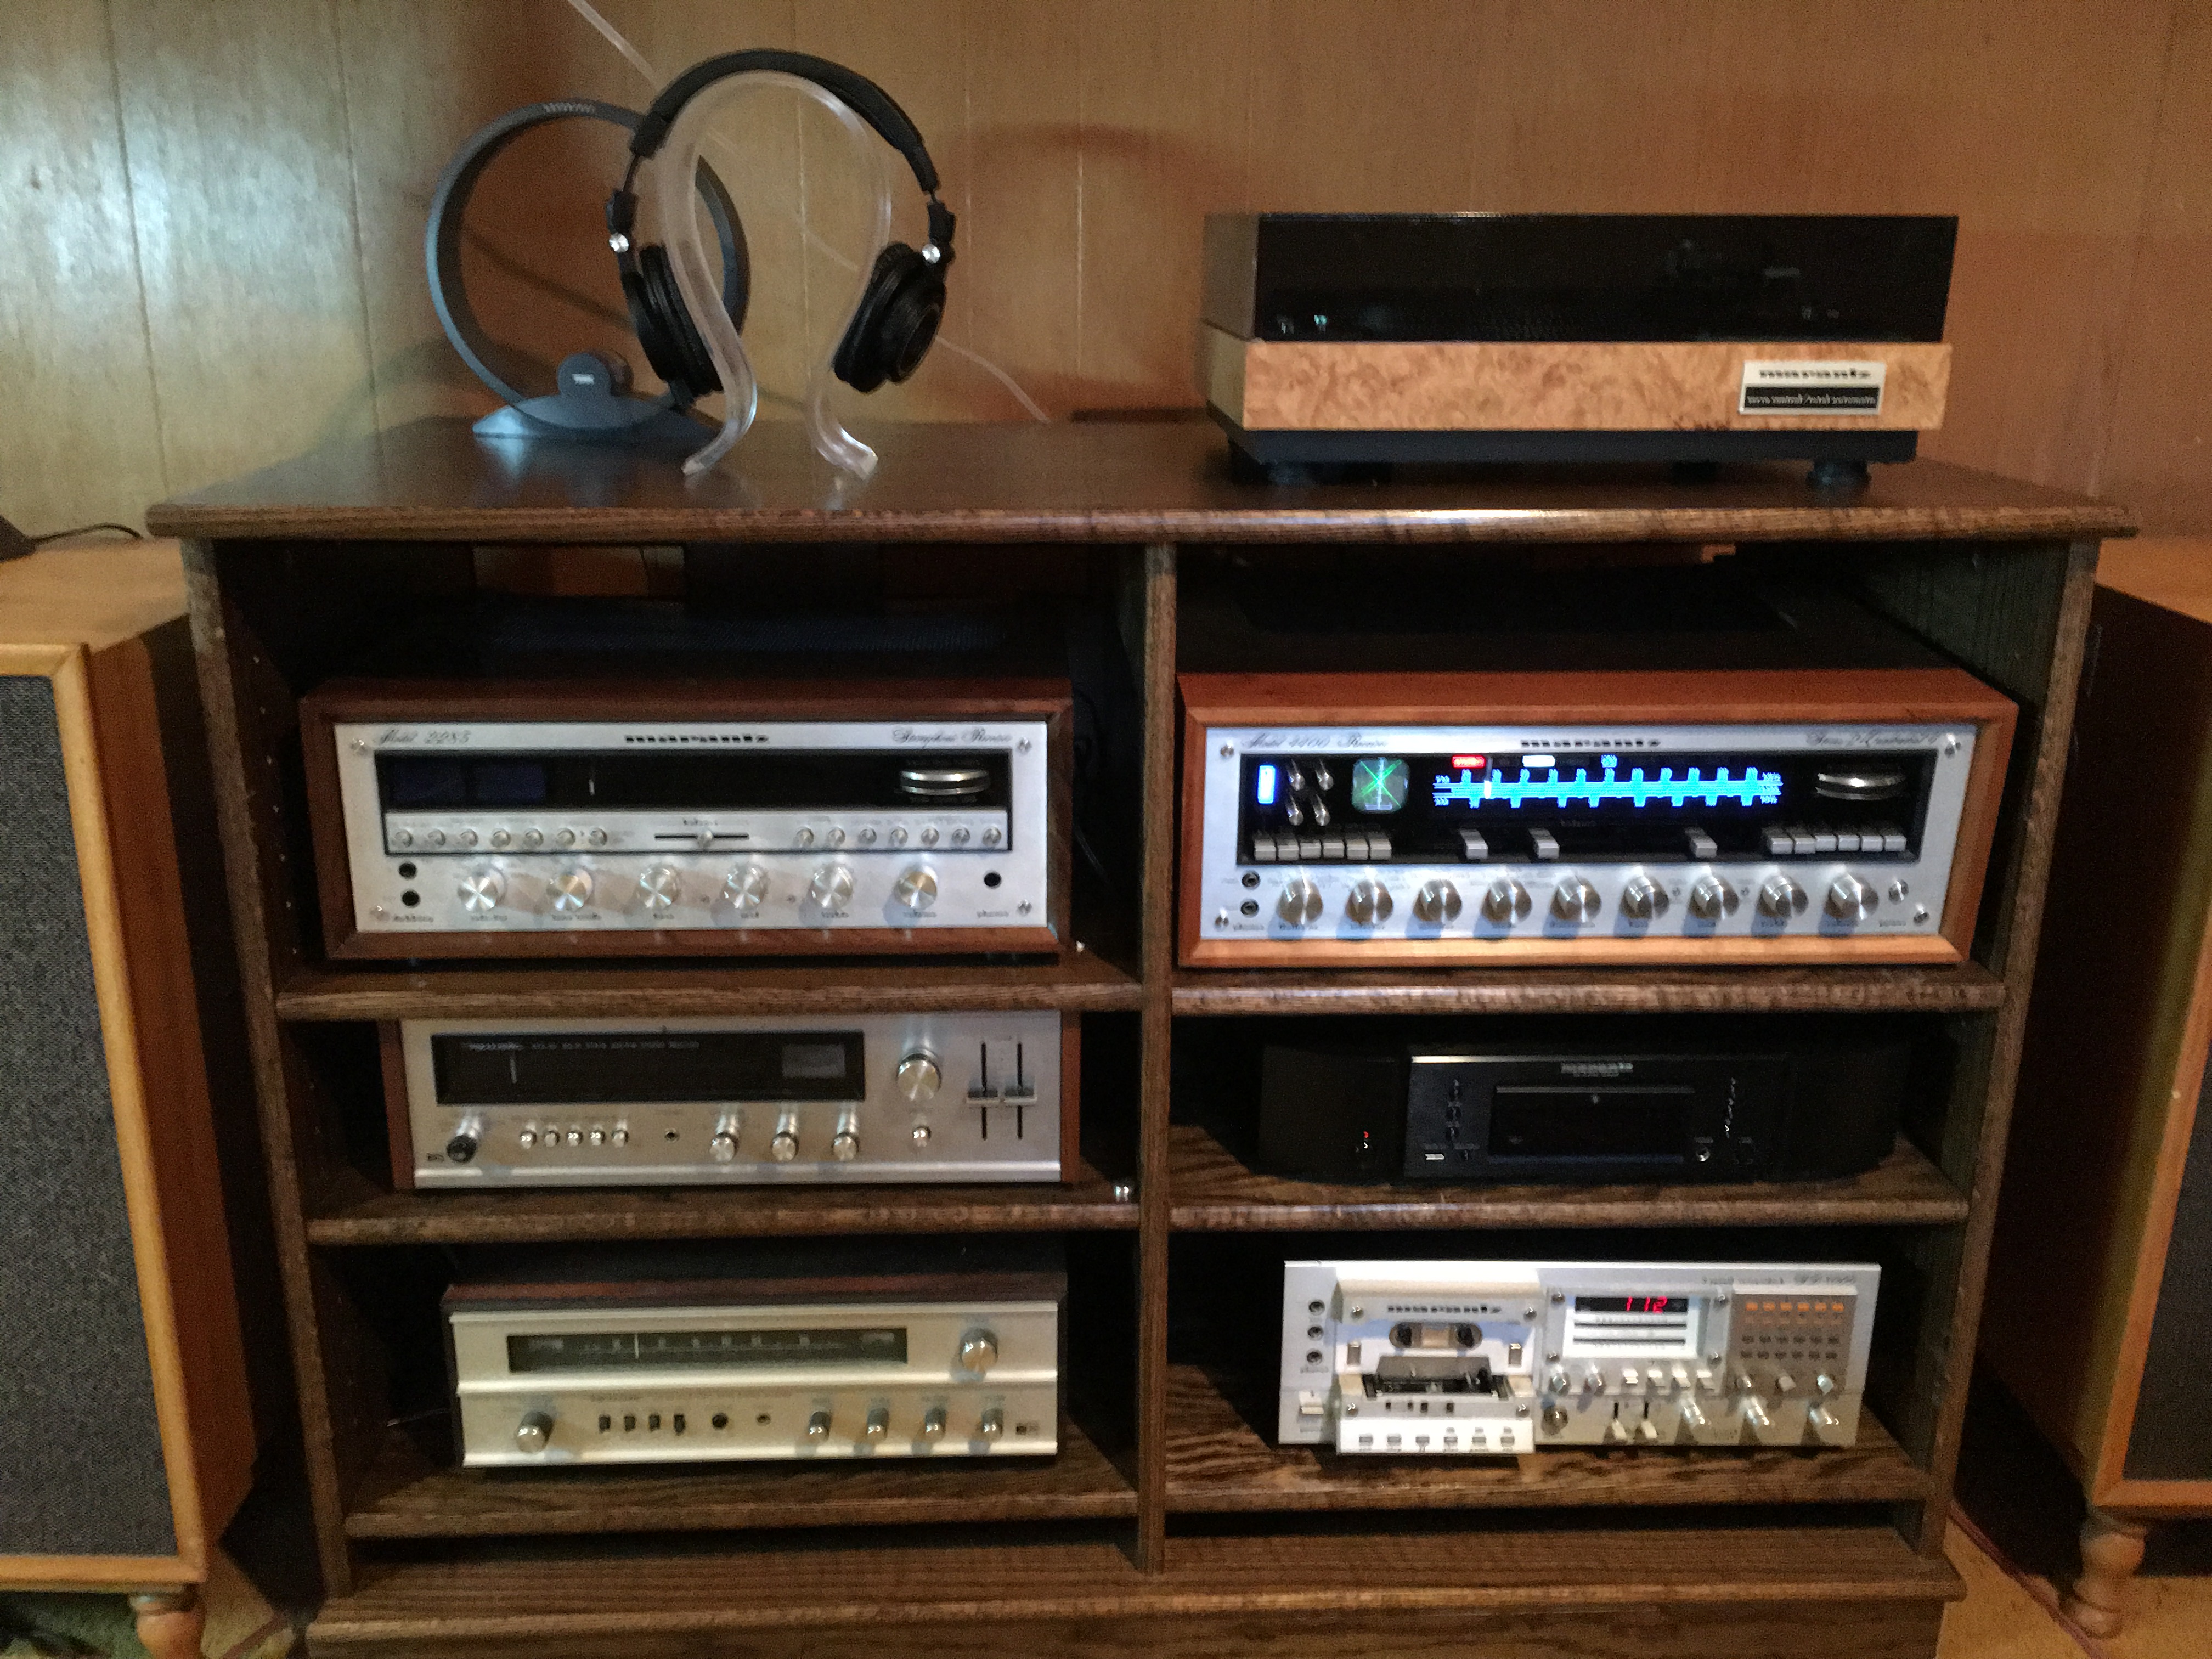
[[[0,1555],[175,1555],[42,677],[0,677]]]

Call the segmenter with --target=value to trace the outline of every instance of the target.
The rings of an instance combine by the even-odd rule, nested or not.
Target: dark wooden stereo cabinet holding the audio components
[[[1201,425],[905,427],[849,504],[794,425],[717,471],[458,422],[312,453],[153,511],[188,538],[195,635],[272,1186],[314,1533],[310,1652],[354,1655],[1933,1655],[1969,1356],[2097,544],[2117,509],[1933,462],[1858,491],[1803,469],[1250,489]],[[301,699],[531,544],[863,549],[885,593],[1051,588],[1126,699],[1091,701],[1057,958],[332,960]],[[1606,544],[1604,557],[1584,557]],[[2017,706],[1955,962],[1177,967],[1179,591],[1237,560],[1544,564],[1606,582],[1734,549],[1836,584]],[[551,553],[549,557],[564,557]],[[1694,557],[1694,555],[1692,555]],[[573,599],[568,604],[593,604]],[[1011,604],[1011,599],[1009,599]],[[1099,666],[1099,664],[1093,664]],[[1079,684],[1082,690],[1082,684]],[[1077,710],[1086,703],[1079,699]],[[1097,858],[1088,854],[1097,854]],[[383,1161],[380,1022],[1022,1006],[1082,1022],[1084,1157],[1057,1188],[407,1192]],[[1878,1168],[1812,1186],[1340,1188],[1254,1172],[1170,1102],[1177,1026],[1360,1013],[1909,1015],[1949,1064]],[[1847,1449],[1546,1451],[1349,1467],[1272,1436],[1270,1263],[1480,1234],[1478,1254],[1825,1250],[1882,1265]],[[1781,1232],[1787,1230],[1787,1232]],[[1048,1464],[462,1471],[438,1444],[447,1252],[781,1234],[1022,1232],[1068,1252],[1068,1411]],[[1542,1237],[1542,1243],[1537,1243]],[[1458,1245],[1453,1245],[1458,1248]],[[1259,1329],[1259,1340],[1237,1336]],[[1230,1336],[1234,1340],[1223,1340]],[[1413,1542],[1409,1542],[1409,1537]]]

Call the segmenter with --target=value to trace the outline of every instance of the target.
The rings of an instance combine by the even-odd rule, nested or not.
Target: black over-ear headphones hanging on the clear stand
[[[606,199],[608,246],[622,270],[622,292],[630,301],[630,325],[646,349],[646,361],[668,383],[679,409],[708,392],[719,392],[721,374],[684,305],[668,250],[655,243],[639,248],[633,241],[637,168],[666,144],[668,128],[692,97],[730,75],[761,71],[799,75],[841,97],[885,144],[907,157],[914,181],[929,197],[929,243],[916,252],[894,241],[876,257],[860,307],[830,363],[836,378],[858,392],[874,392],[885,380],[905,380],[920,367],[929,343],[938,336],[938,323],[945,321],[945,268],[953,263],[953,215],[938,199],[938,168],[922,146],[922,135],[891,95],[865,75],[803,51],[732,51],[708,58],[668,82],[653,100],[653,108],[630,137],[630,170],[622,188]]]

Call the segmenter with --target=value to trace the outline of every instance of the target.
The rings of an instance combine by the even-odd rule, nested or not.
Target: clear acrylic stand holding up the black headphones
[[[684,106],[675,126],[668,128],[668,142],[661,144],[659,155],[646,164],[648,190],[644,192],[646,201],[641,204],[641,217],[646,221],[644,228],[659,239],[661,248],[668,250],[668,261],[675,268],[684,305],[699,325],[699,336],[706,341],[708,356],[714,358],[714,369],[721,374],[723,389],[721,431],[706,445],[706,449],[684,462],[684,471],[686,476],[701,473],[728,456],[737,440],[752,429],[752,418],[761,403],[759,380],[752,374],[752,363],[745,358],[745,345],[737,338],[737,330],[730,325],[730,314],[721,307],[721,288],[714,281],[714,268],[708,263],[706,239],[699,234],[699,215],[692,208],[692,179],[699,170],[699,150],[706,144],[712,117],[728,111],[737,100],[770,88],[812,97],[830,111],[852,139],[852,153],[860,166],[863,181],[874,181],[876,188],[876,223],[869,237],[867,257],[854,274],[852,301],[841,312],[838,325],[823,341],[821,356],[807,374],[807,436],[814,440],[814,451],[838,471],[867,478],[876,471],[876,451],[845,431],[843,422],[830,411],[830,394],[838,385],[836,372],[832,369],[836,347],[845,338],[845,330],[852,327],[852,319],[854,312],[860,310],[860,301],[867,296],[867,279],[876,270],[878,254],[883,254],[885,246],[891,241],[889,148],[836,93],[781,71],[732,75],[730,80],[708,86]],[[734,184],[737,188],[732,190],[732,197],[743,215],[745,186],[743,179],[734,179]],[[754,310],[754,314],[759,314],[759,310]]]

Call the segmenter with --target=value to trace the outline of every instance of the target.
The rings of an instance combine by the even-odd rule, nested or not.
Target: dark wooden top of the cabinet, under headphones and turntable
[[[860,429],[854,487],[796,427],[763,427],[701,478],[637,451],[471,438],[416,420],[334,442],[148,513],[161,535],[502,542],[1765,542],[2115,535],[2108,502],[1986,473],[1876,467],[1814,491],[1803,467],[1681,482],[1663,467],[1484,469],[1385,487],[1256,487],[1190,422]]]

